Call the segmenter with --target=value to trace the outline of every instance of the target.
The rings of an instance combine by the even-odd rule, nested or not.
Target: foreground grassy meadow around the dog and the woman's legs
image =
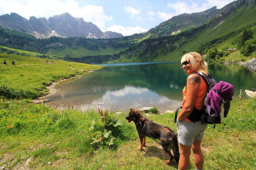
[[[256,98],[232,101],[224,123],[208,125],[202,141],[204,169],[255,168]],[[138,151],[134,123],[127,113],[79,112],[33,104],[0,101],[0,167],[6,169],[177,169],[165,165],[162,147],[147,138]],[[177,131],[174,114],[146,115]],[[193,157],[190,169],[194,169]]]

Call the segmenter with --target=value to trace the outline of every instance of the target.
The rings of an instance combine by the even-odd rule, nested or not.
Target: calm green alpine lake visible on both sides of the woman
[[[79,110],[108,109],[127,112],[129,108],[156,106],[161,112],[174,110],[182,103],[182,89],[187,74],[180,63],[102,64],[101,70],[56,87],[54,95],[46,98],[53,107]],[[227,81],[240,89],[255,87],[256,74],[236,64],[210,64],[215,80]]]

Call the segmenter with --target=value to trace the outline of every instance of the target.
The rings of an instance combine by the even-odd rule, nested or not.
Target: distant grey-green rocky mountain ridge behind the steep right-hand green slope
[[[205,24],[218,11],[216,7],[212,7],[212,9],[205,10],[204,12],[183,13],[162,22],[153,29],[150,29],[148,33],[151,33],[153,36],[173,35],[174,33],[179,33],[192,27],[199,27]]]

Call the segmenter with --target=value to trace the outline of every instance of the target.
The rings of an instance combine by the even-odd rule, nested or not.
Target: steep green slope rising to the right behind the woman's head
[[[219,21],[179,33],[178,35],[150,38],[120,54],[116,62],[172,61],[179,60],[184,53],[217,48],[226,50],[237,47],[241,34],[251,29],[256,35],[256,6],[243,5]],[[248,60],[252,56],[246,57]],[[111,61],[110,61],[111,62]]]

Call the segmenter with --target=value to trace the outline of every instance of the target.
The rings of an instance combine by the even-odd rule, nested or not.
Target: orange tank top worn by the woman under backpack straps
[[[205,74],[208,75],[207,72],[205,72],[205,70],[199,70],[198,72],[203,72]],[[198,90],[198,94],[196,96],[196,101],[194,102],[194,107],[196,107],[197,110],[201,110],[202,107],[204,106],[204,98],[205,98],[205,95],[207,93],[207,83],[205,82],[204,78],[201,78],[201,83],[199,85],[199,90]],[[183,94],[183,102],[182,102],[182,107],[183,107],[183,104],[185,103],[186,101],[186,86],[183,88],[182,90],[182,94]]]

